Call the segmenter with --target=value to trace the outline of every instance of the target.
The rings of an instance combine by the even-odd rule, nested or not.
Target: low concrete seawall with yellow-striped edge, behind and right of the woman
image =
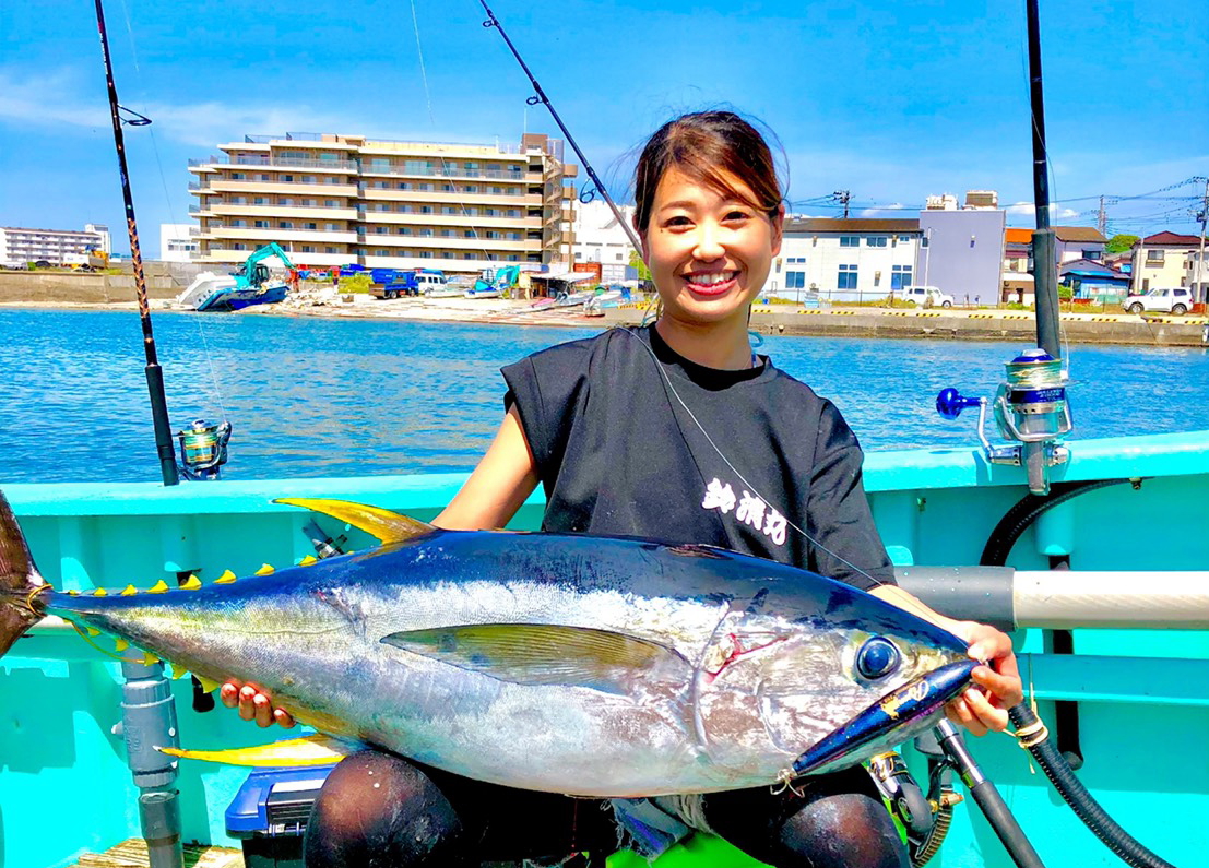
[[[637,325],[642,309],[606,308],[608,325]],[[752,329],[762,335],[832,337],[933,337],[943,340],[1036,341],[1028,311],[899,311],[854,308],[805,311],[754,307]],[[1204,317],[1136,317],[1128,313],[1064,313],[1063,336],[1072,343],[1124,343],[1164,347],[1209,346]]]

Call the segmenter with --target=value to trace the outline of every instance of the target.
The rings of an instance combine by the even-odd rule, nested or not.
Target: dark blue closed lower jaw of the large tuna
[[[798,757],[793,776],[820,771],[896,729],[939,712],[945,702],[966,689],[970,673],[978,665],[977,660],[945,664],[883,696]]]

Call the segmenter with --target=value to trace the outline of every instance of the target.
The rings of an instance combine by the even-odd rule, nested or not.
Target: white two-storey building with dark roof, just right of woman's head
[[[873,301],[922,283],[919,220],[788,218],[767,295]]]

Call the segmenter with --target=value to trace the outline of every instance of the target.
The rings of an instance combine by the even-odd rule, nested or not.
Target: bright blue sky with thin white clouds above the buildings
[[[492,8],[619,197],[664,120],[728,105],[780,138],[791,210],[838,214],[835,190],[889,215],[989,189],[1031,225],[1023,0]],[[484,17],[475,0],[108,0],[121,102],[155,121],[126,129],[145,255],[161,222],[187,222],[187,160],[245,133],[556,133]],[[1041,25],[1055,220],[1094,225],[1105,195],[1110,233],[1194,231],[1209,4],[1042,0]],[[0,225],[122,226],[108,112],[93,5],[0,0]]]

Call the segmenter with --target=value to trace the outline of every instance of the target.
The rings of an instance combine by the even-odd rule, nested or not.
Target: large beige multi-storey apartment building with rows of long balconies
[[[219,150],[190,161],[196,261],[242,262],[277,242],[299,266],[572,262],[577,167],[546,135],[463,145],[287,133]]]

